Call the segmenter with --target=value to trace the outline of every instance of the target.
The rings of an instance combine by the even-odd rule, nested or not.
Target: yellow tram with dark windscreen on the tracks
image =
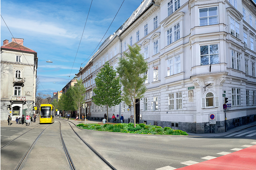
[[[54,123],[54,106],[51,104],[40,105],[40,123]]]

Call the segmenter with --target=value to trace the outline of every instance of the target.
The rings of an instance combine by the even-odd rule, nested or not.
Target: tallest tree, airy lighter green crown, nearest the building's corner
[[[125,52],[125,57],[119,58],[117,73],[123,85],[123,101],[127,105],[132,105],[134,108],[134,127],[136,127],[135,104],[136,99],[142,98],[146,92],[146,86],[144,84],[147,75],[144,73],[148,70],[148,64],[144,61],[143,54],[140,53],[140,46],[135,44],[134,47],[129,45],[128,47],[130,52]]]

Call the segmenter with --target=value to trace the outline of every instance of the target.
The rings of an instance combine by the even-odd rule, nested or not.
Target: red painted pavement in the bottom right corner
[[[249,144],[250,145],[250,144]],[[256,170],[256,145],[179,170]]]

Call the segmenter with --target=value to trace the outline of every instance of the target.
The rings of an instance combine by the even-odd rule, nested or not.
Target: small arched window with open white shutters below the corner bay
[[[202,108],[219,107],[219,97],[214,97],[212,92],[205,94],[205,97],[201,99]]]

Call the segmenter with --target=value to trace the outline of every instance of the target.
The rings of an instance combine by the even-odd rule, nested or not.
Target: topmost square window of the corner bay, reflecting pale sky
[[[199,9],[199,26],[218,24],[217,7]]]

